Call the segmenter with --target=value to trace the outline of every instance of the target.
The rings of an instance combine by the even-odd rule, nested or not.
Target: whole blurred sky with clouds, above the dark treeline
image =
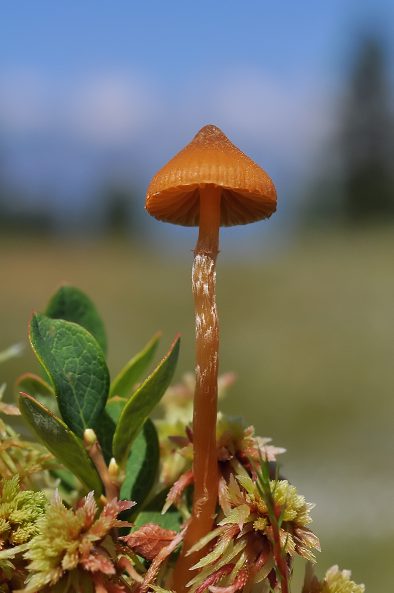
[[[335,132],[357,39],[381,31],[393,56],[393,29],[389,0],[3,0],[3,177],[84,208],[214,123],[289,197]]]

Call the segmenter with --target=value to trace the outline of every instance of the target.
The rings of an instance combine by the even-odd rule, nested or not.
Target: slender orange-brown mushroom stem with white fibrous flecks
[[[215,297],[215,262],[219,246],[221,187],[200,186],[200,221],[192,271],[196,310],[196,387],[193,411],[194,499],[192,518],[174,571],[174,588],[185,591],[190,568],[205,551],[185,556],[212,529],[218,496],[216,419],[219,324]],[[198,557],[199,556],[199,557]]]

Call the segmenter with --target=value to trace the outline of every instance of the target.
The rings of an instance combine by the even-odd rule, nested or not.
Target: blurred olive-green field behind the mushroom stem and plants
[[[30,311],[67,280],[103,315],[112,374],[158,329],[160,355],[182,331],[177,378],[193,368],[191,256],[121,241],[0,248],[0,350],[27,343]],[[370,593],[392,593],[394,229],[307,235],[256,262],[217,264],[220,367],[238,376],[221,409],[288,449],[282,473],[317,504],[317,573],[338,563]],[[2,365],[9,398],[27,371],[28,347]]]

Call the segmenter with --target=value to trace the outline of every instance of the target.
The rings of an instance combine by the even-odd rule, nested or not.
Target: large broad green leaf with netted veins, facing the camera
[[[83,438],[96,429],[109,391],[109,371],[94,337],[76,323],[33,313],[29,339],[52,381],[66,425]]]

